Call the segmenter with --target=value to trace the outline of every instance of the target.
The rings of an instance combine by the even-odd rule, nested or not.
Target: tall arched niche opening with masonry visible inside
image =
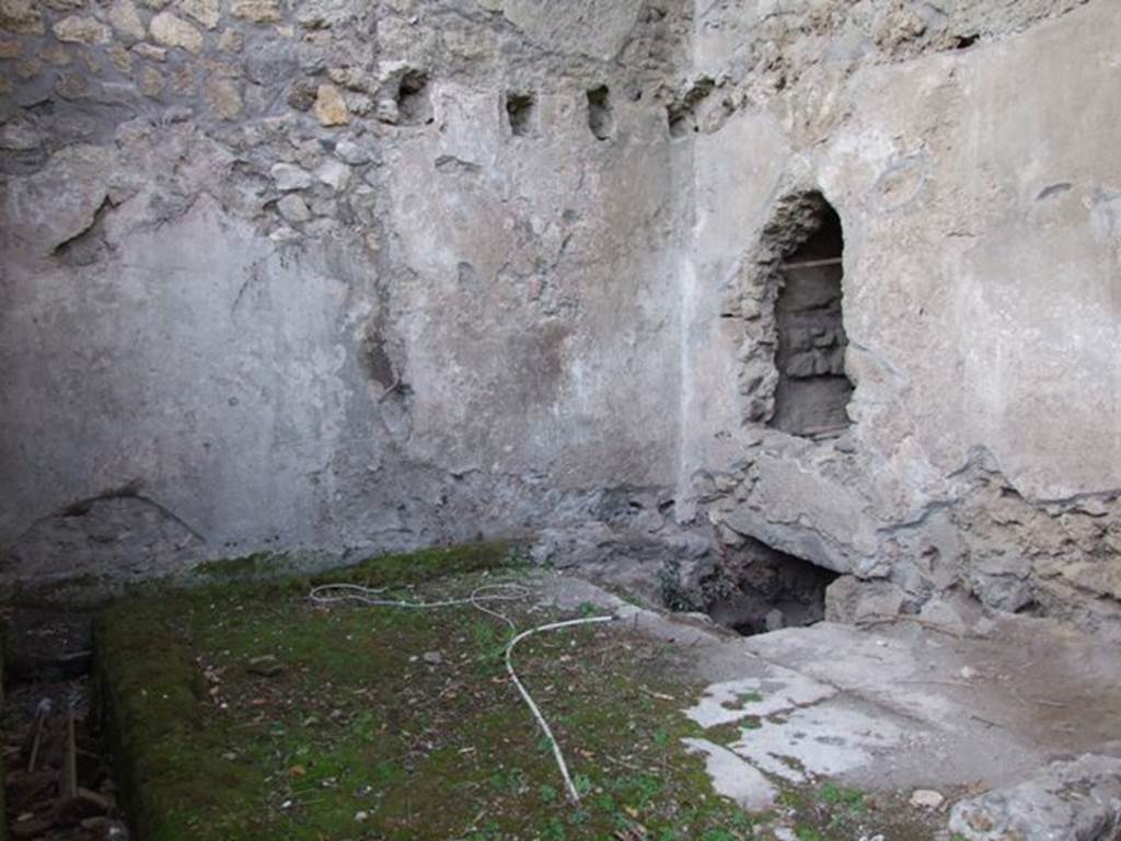
[[[778,265],[775,299],[775,412],[769,425],[809,438],[851,425],[853,386],[844,371],[841,306],[844,235],[841,218],[821,193],[805,196],[805,232]]]

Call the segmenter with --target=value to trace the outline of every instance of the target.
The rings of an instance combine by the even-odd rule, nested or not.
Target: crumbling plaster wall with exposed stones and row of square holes
[[[509,535],[671,486],[687,11],[0,0],[2,573]]]

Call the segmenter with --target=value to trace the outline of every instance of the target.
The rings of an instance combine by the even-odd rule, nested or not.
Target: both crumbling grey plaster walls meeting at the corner
[[[695,583],[751,539],[907,610],[1119,627],[1108,0],[0,0],[0,574],[531,533]],[[815,192],[855,386],[822,441],[769,425]]]

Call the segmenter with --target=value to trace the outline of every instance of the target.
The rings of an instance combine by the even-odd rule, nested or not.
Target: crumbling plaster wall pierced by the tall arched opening
[[[684,516],[916,609],[956,589],[1115,629],[1121,8],[696,8]],[[819,443],[744,422],[758,243],[805,190],[843,223],[856,386]]]

